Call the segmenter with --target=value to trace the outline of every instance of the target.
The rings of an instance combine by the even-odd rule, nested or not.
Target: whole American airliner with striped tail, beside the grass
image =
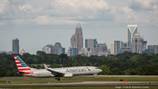
[[[29,67],[20,57],[14,55],[15,63],[19,74],[29,77],[55,77],[60,80],[60,77],[73,77],[79,75],[97,75],[102,70],[94,66],[74,66],[74,67],[61,67],[49,68],[44,64],[45,69],[36,69]]]

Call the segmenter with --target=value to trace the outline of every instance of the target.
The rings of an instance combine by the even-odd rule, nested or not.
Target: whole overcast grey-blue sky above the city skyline
[[[158,44],[158,0],[0,0],[0,51],[11,51],[15,38],[31,53],[55,42],[68,48],[77,23],[84,38],[108,46],[127,41],[128,24]]]

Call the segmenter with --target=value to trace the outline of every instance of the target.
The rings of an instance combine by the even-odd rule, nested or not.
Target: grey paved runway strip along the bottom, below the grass
[[[140,87],[151,88],[158,87],[158,82],[149,81],[85,81],[74,83],[34,83],[34,84],[0,84],[0,88],[29,88],[29,87]]]

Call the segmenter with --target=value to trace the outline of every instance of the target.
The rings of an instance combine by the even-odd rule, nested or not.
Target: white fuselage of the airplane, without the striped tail
[[[96,75],[101,72],[101,69],[93,66],[79,66],[79,67],[62,67],[62,68],[48,68],[51,71],[62,73],[63,77],[72,77],[75,75]],[[31,68],[32,73],[27,76],[33,77],[52,77],[54,74],[47,69]]]

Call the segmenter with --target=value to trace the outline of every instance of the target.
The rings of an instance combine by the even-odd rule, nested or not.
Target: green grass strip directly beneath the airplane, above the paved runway
[[[120,81],[120,80],[158,81],[158,77],[72,77],[72,78],[61,78],[61,81],[55,80],[54,78],[2,77],[0,78],[0,84],[62,83],[62,82]]]

